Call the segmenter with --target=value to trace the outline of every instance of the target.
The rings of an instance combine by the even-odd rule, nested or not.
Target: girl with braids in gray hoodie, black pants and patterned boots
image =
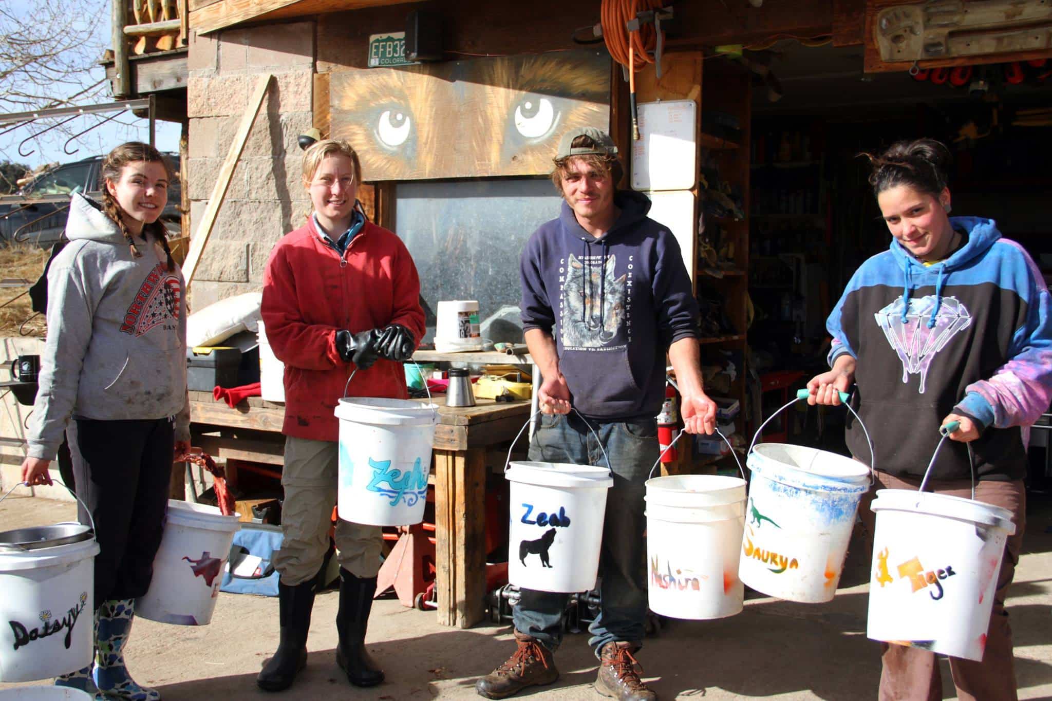
[[[50,483],[64,431],[80,520],[90,513],[100,547],[95,661],[55,683],[155,701],[160,694],[128,676],[123,648],[161,544],[171,461],[189,448],[185,283],[158,221],[173,180],[164,157],[122,144],[102,178],[101,203],[70,199],[69,243],[47,271],[47,341],[22,478]]]

